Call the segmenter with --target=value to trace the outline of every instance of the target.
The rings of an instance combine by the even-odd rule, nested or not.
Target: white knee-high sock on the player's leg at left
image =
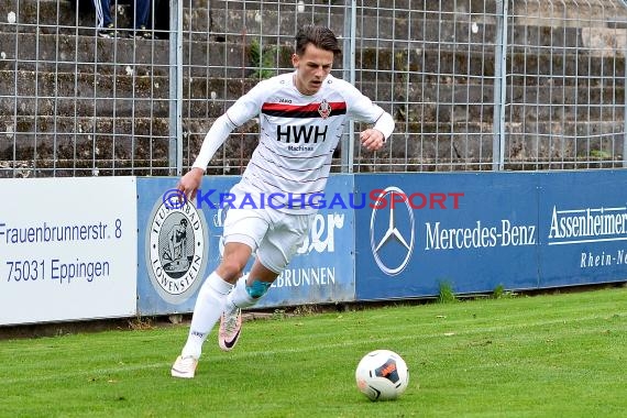
[[[198,293],[194,315],[191,316],[189,334],[180,355],[191,355],[196,359],[200,358],[202,343],[216,322],[218,322],[218,319],[220,319],[222,310],[224,309],[227,295],[232,288],[233,285],[218,276],[216,272],[207,277]]]

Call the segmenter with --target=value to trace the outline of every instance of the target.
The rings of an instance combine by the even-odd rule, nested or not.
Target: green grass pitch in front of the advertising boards
[[[1,330],[0,330],[1,332]],[[624,417],[627,288],[397,305],[216,332],[197,377],[169,377],[187,326],[0,341],[2,417]],[[354,383],[366,352],[410,370],[398,400]]]

